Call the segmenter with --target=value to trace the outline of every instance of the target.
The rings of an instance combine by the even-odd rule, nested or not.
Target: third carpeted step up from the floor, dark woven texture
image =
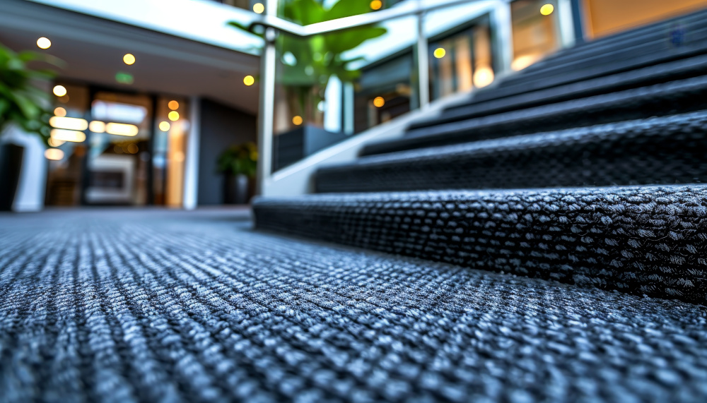
[[[707,109],[707,76],[455,121],[370,143],[361,155],[556,131]]]

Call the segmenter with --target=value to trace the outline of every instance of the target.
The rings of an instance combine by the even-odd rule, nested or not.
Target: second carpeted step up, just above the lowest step
[[[362,157],[317,193],[707,183],[707,111]]]

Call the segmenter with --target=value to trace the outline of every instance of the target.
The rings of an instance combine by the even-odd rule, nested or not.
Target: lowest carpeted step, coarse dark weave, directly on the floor
[[[264,198],[257,229],[707,304],[707,186]]]

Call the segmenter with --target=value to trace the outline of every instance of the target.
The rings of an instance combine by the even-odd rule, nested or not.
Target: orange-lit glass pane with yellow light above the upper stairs
[[[517,0],[510,4],[513,70],[522,70],[560,48],[556,1]]]

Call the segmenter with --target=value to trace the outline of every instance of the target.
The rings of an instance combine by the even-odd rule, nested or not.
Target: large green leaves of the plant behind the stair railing
[[[339,0],[329,8],[317,0],[286,0],[281,4],[281,17],[300,25],[371,11],[370,2],[363,0]],[[247,30],[237,22],[231,22],[230,25]],[[307,121],[314,120],[312,118],[317,114],[317,104],[324,100],[329,78],[337,76],[344,83],[352,83],[361,75],[361,71],[347,68],[352,61],[361,58],[346,59],[344,53],[386,32],[382,27],[365,26],[305,39],[279,35],[276,49],[283,64],[277,80],[284,85],[291,112],[303,116]]]

